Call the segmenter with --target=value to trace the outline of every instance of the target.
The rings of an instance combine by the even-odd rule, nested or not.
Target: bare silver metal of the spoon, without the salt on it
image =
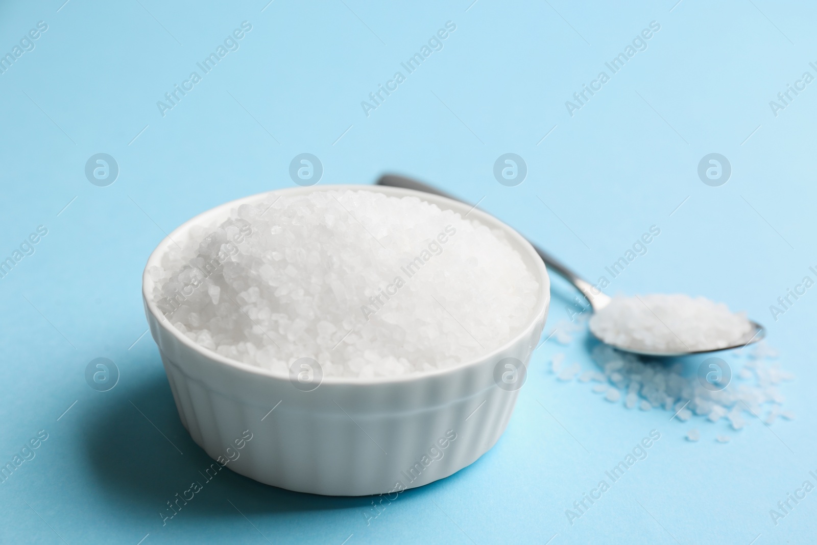
[[[450,194],[445,193],[444,191],[440,191],[431,185],[423,184],[420,181],[412,180],[411,178],[407,178],[405,176],[399,176],[396,174],[384,174],[380,177],[377,181],[377,185],[388,185],[391,187],[401,187],[406,190],[415,190],[415,191],[422,191],[424,193],[431,193],[435,195],[440,195],[440,197],[447,197],[448,199],[459,201],[456,197],[453,197]],[[556,261],[550,254],[539,248],[536,244],[531,243],[531,246],[534,247],[534,250],[539,254],[539,257],[542,257],[542,261],[545,262],[545,266],[547,266],[548,270],[553,270],[562,278],[567,280],[570,284],[573,284],[578,291],[580,291],[584,297],[587,298],[587,302],[590,302],[590,306],[592,306],[593,312],[598,312],[599,310],[603,309],[605,306],[609,305],[611,298],[601,291],[598,288],[593,288],[592,284],[587,282],[587,280],[579,278],[579,276],[574,273],[572,270],[569,270],[566,266],[562,265],[559,261]],[[623,352],[632,352],[633,354],[638,355],[649,355],[655,357],[676,357],[682,355],[691,355],[691,354],[705,354],[708,352],[717,352],[722,350],[731,350],[733,348],[739,348],[743,346],[747,346],[754,342],[760,341],[763,337],[766,337],[766,328],[763,328],[761,324],[757,322],[750,321],[752,324],[752,337],[748,339],[744,339],[745,342],[739,342],[734,346],[725,346],[724,348],[717,348],[715,350],[701,350],[701,351],[683,351],[683,352],[650,352],[650,351],[641,351],[627,346],[615,346],[616,349],[623,351]]]

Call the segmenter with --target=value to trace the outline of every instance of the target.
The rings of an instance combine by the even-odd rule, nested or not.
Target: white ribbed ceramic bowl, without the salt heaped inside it
[[[528,364],[547,317],[547,271],[534,248],[515,230],[444,197],[379,185],[298,187],[272,193],[330,189],[415,195],[440,208],[470,212],[471,219],[502,230],[539,283],[528,324],[497,350],[452,369],[408,377],[324,377],[314,391],[297,389],[288,375],[209,351],[163,317],[153,301],[154,282],[147,270],[161,262],[172,240],[188,239],[192,226],[211,226],[240,204],[265,199],[266,193],[212,208],[159,243],[142,278],[150,333],[182,424],[209,456],[226,462],[233,471],[267,485],[312,494],[360,496],[426,485],[475,462],[505,430],[521,381],[509,387],[497,380],[510,369],[504,366],[507,362],[499,362],[516,358]],[[249,434],[252,440],[241,443]],[[235,440],[243,449],[236,448]]]

